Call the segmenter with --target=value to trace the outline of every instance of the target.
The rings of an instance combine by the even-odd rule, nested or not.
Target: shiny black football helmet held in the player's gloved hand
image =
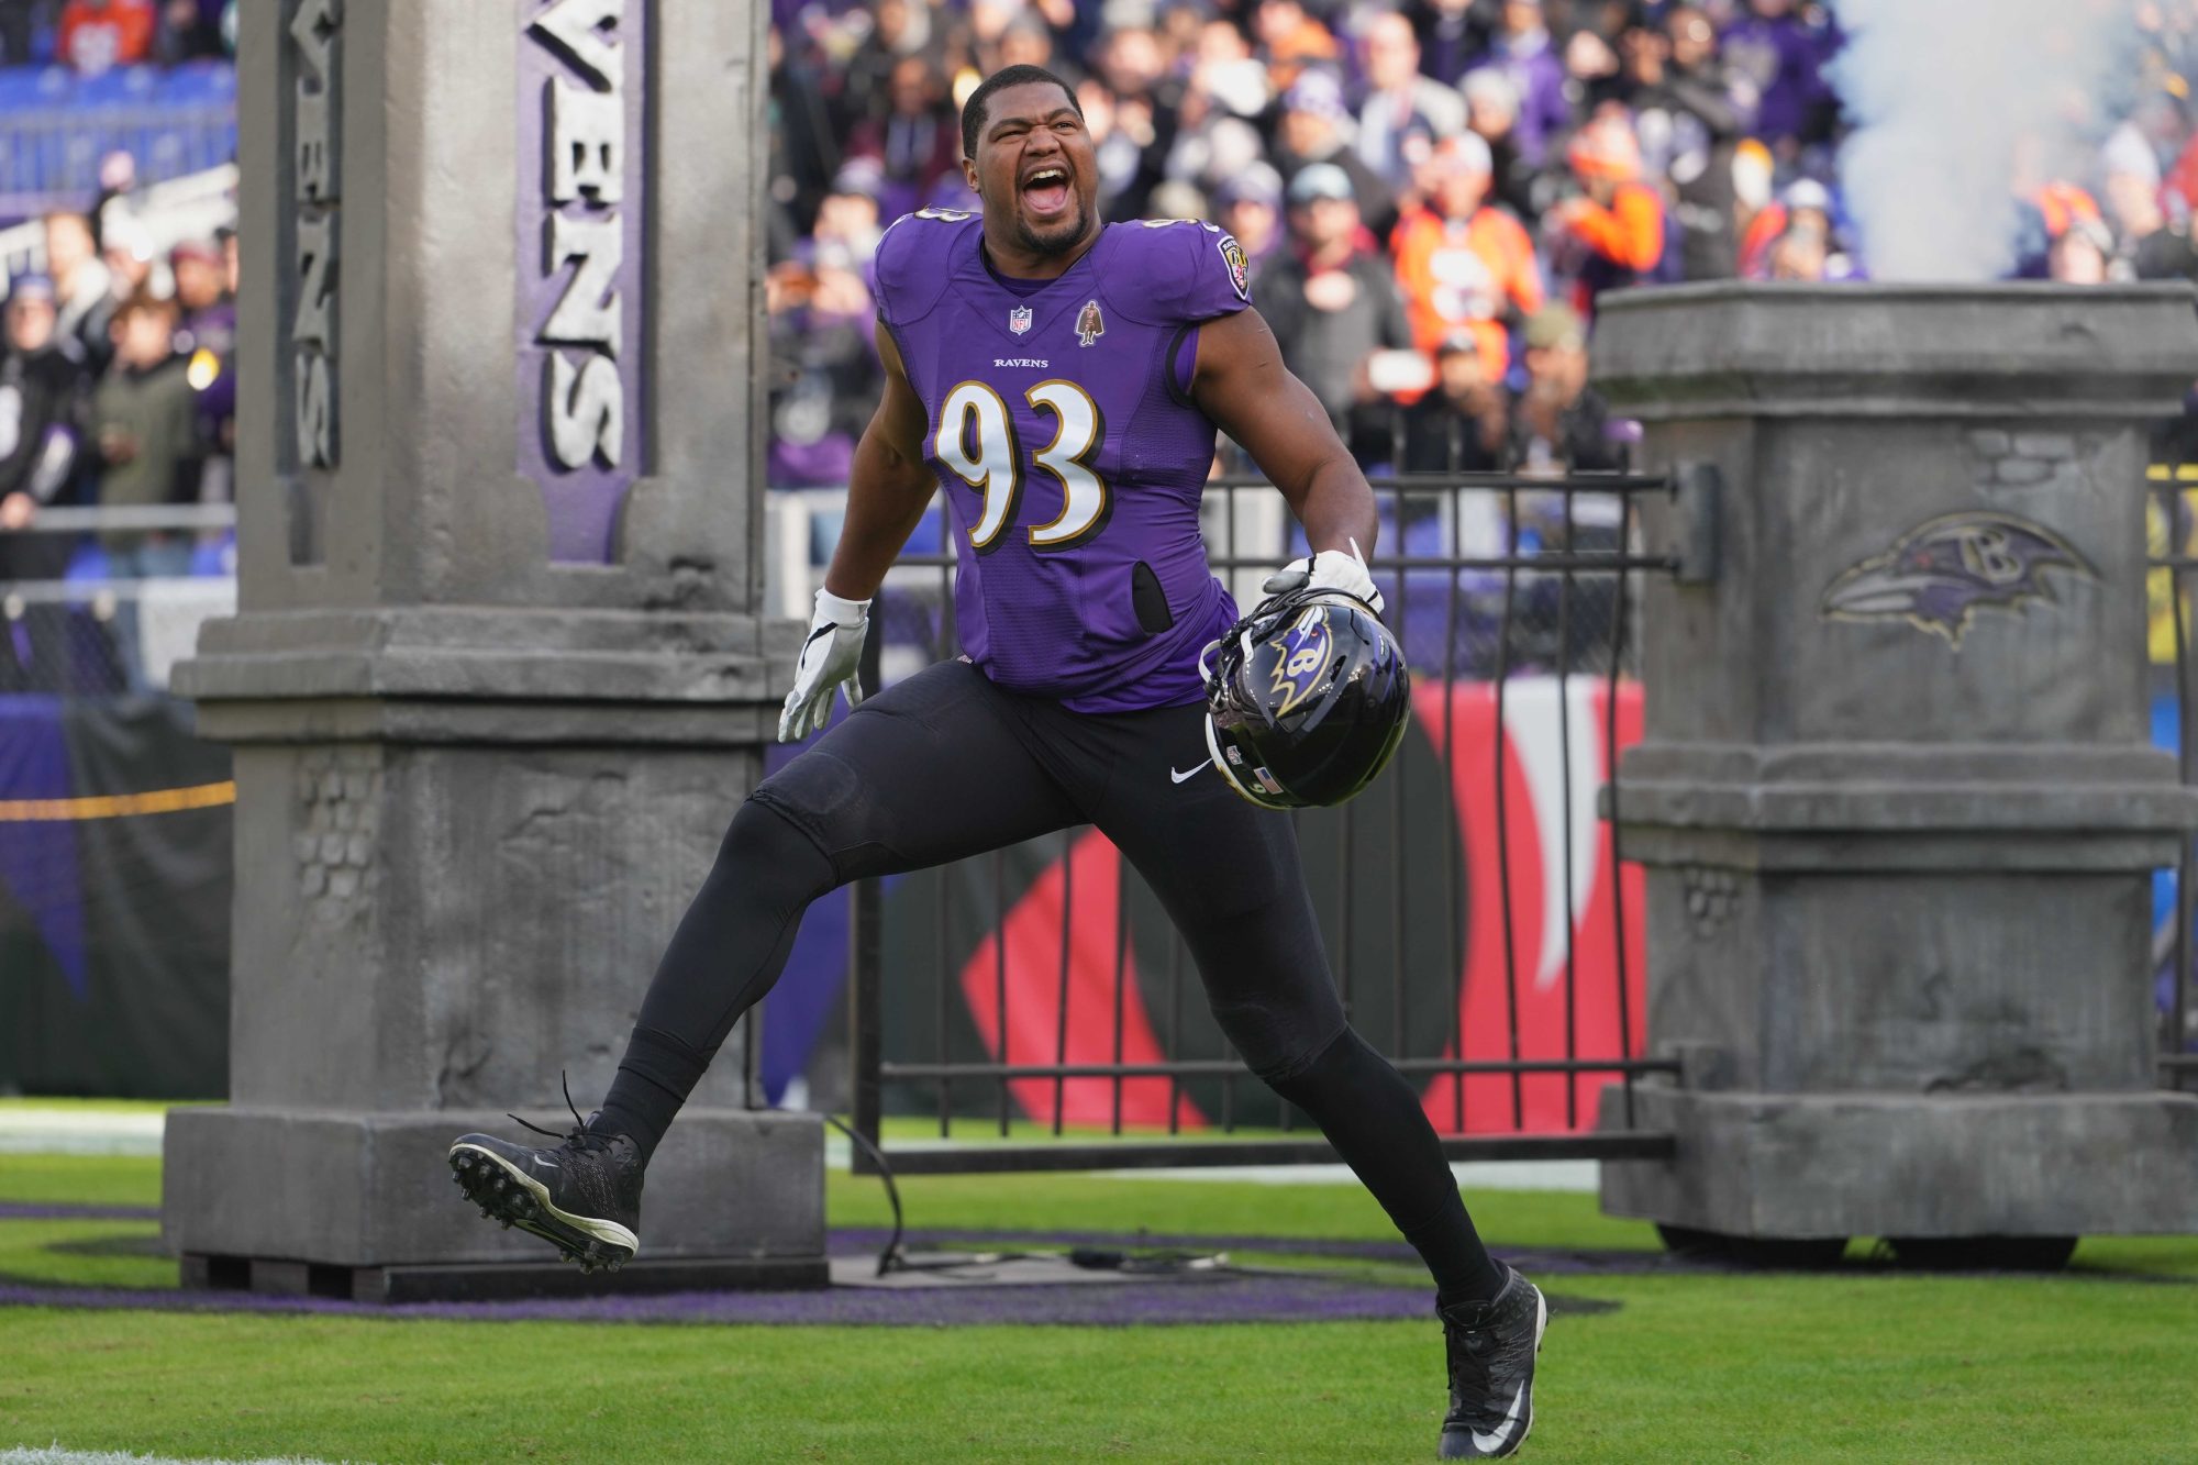
[[[1341,590],[1264,601],[1198,658],[1207,752],[1268,809],[1343,803],[1389,765],[1411,673],[1389,627]]]

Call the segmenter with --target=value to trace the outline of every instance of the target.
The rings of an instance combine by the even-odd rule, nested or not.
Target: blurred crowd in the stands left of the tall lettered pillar
[[[233,40],[235,0],[0,0],[0,66],[24,75],[222,66]],[[108,647],[106,636],[70,634],[81,618],[66,607],[24,603],[35,583],[229,568],[224,532],[40,528],[48,508],[231,499],[235,238],[222,229],[158,246],[156,231],[134,211],[138,183],[136,158],[106,154],[97,196],[46,198],[26,224],[35,231],[35,266],[22,268],[18,257],[7,275],[0,691],[141,682],[134,603],[123,598],[108,616],[114,642]],[[90,660],[103,669],[86,664],[88,647],[99,651]]]

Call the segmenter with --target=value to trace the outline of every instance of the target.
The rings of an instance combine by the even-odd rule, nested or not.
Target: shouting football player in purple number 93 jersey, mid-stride
[[[1215,427],[1314,550],[1270,590],[1378,612],[1361,557],[1374,495],[1284,370],[1233,238],[1101,224],[1092,139],[1059,77],[991,75],[963,143],[983,213],[925,209],[877,249],[886,392],[778,735],[824,728],[840,689],[855,711],[734,816],[602,1111],[554,1148],[466,1135],[451,1164],[488,1214],[582,1265],[626,1260],[651,1153],[778,979],[809,902],[1092,823],[1180,926],[1244,1062],[1427,1260],[1448,1344],[1442,1456],[1510,1454],[1532,1425],[1543,1296],[1488,1256],[1418,1093],[1345,1023],[1288,816],[1209,757],[1200,651],[1237,620],[1198,537]],[[870,598],[941,488],[965,653],[864,702]]]

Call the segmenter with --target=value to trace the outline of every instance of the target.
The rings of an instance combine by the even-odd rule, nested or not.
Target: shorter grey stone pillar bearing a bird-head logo
[[[1596,383],[1714,541],[1651,576],[1642,1084],[1629,1216],[1747,1238],[2198,1230],[2158,1089],[2152,871],[2194,794],[2150,746],[2145,427],[2187,286],[1686,286],[1609,299]],[[1679,524],[1681,508],[1708,513]],[[1703,579],[1697,574],[1681,576]],[[1605,1122],[1622,1100],[1609,1093]]]

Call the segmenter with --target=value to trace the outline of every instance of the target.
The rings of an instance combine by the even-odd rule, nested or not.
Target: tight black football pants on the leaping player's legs
[[[1205,708],[1070,713],[943,662],[864,702],[765,779],[725,834],[642,1001],[602,1124],[653,1150],[800,913],[851,880],[1090,823],[1161,897],[1244,1062],[1367,1183],[1446,1298],[1492,1267],[1418,1093],[1343,1018],[1286,814],[1207,761]]]

